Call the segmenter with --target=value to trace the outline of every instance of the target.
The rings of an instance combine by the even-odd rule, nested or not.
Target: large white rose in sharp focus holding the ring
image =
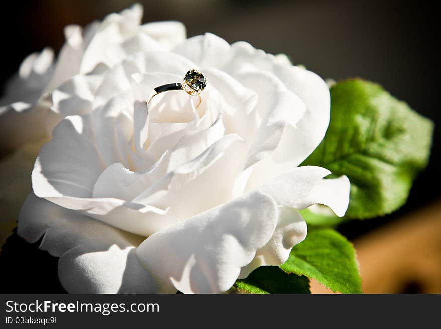
[[[136,45],[89,45],[91,73],[48,96],[66,117],[35,162],[18,233],[43,236],[67,291],[224,292],[286,261],[307,233],[297,210],[344,215],[347,177],[298,167],[329,124],[319,76],[212,34]],[[199,106],[182,91],[147,105],[194,68],[207,79]]]

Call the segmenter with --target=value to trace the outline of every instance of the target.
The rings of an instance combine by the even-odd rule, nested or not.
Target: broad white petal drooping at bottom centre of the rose
[[[184,293],[223,292],[271,238],[277,216],[272,198],[254,192],[150,236],[137,255]]]

